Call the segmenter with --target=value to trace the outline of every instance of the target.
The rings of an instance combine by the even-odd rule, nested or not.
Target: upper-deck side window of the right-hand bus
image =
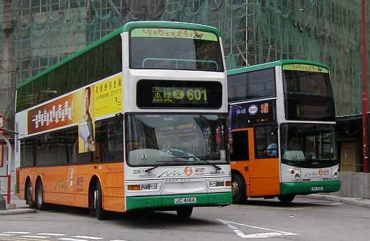
[[[227,76],[227,85],[229,101],[244,101],[276,95],[273,68]]]

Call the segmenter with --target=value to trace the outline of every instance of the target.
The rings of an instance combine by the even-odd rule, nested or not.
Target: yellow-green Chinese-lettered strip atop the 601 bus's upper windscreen
[[[132,38],[189,38],[193,40],[217,41],[215,33],[178,28],[135,28]]]

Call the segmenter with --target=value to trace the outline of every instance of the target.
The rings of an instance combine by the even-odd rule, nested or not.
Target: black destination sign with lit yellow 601
[[[137,83],[140,108],[219,108],[222,85],[215,81],[151,81]]]

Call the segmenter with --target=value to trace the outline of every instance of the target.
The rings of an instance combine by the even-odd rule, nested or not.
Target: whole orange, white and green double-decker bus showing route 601
[[[21,199],[106,211],[231,203],[217,28],[130,22],[17,88]]]

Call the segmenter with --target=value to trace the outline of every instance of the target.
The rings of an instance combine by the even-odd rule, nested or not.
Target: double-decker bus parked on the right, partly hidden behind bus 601
[[[233,200],[339,190],[329,70],[305,60],[228,72]]]

